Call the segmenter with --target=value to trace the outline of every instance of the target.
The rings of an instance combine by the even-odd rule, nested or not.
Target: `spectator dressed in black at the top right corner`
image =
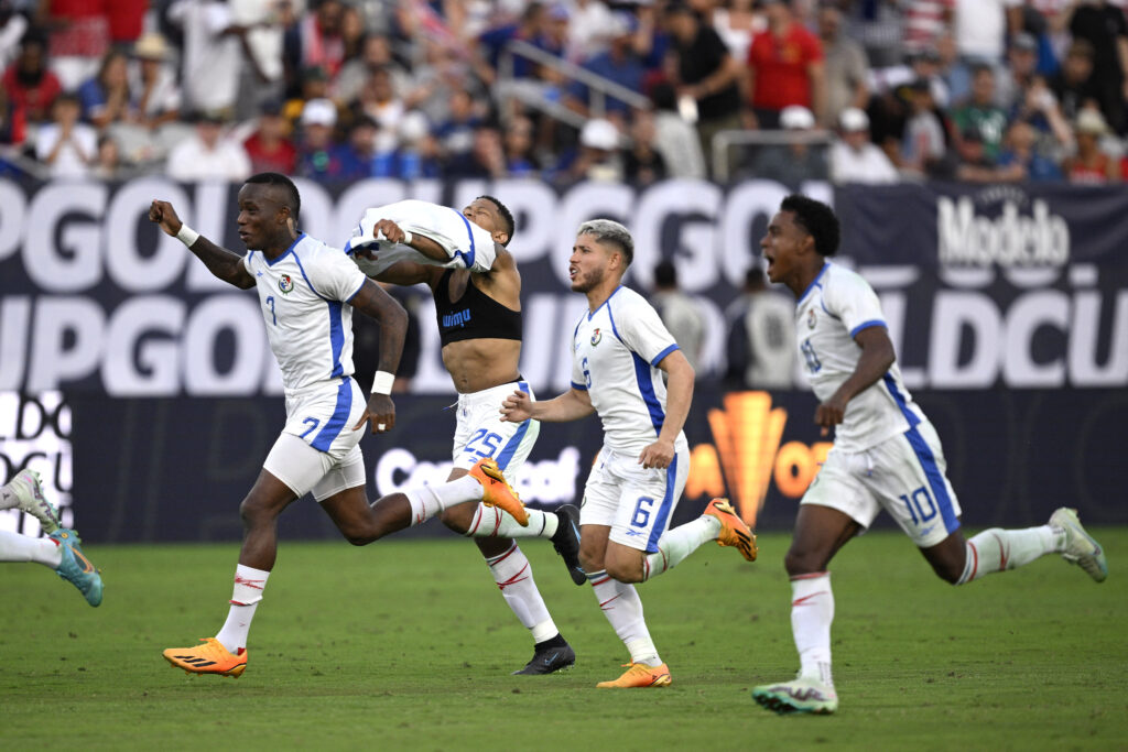
[[[1074,39],[1093,47],[1093,85],[1104,122],[1117,133],[1128,130],[1125,98],[1128,97],[1128,19],[1122,3],[1091,0],[1078,3],[1069,19]],[[1078,115],[1079,116],[1079,115]]]

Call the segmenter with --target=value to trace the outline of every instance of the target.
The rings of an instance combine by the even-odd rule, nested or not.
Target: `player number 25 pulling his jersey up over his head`
[[[442,363],[458,391],[455,467],[448,480],[465,476],[479,458],[496,460],[511,480],[539,433],[536,421],[505,423],[497,408],[521,379],[521,275],[508,250],[513,215],[493,196],[478,196],[461,212],[423,201],[377,206],[364,216],[346,251],[381,282],[426,284],[434,297]],[[377,240],[377,238],[380,238]],[[579,511],[528,510],[521,527],[509,514],[483,504],[451,506],[442,522],[475,539],[502,598],[532,636],[532,658],[515,671],[545,674],[575,663],[575,652],[553,621],[532,577],[532,566],[514,538],[546,538],[563,557],[572,581],[587,582],[580,568]]]

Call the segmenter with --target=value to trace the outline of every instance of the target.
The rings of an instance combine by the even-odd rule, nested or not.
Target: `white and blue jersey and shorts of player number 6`
[[[658,311],[619,286],[581,317],[572,342],[572,388],[587,391],[603,424],[603,446],[588,476],[580,524],[606,525],[610,540],[646,552],[670,524],[689,472],[685,433],[668,468],[644,469],[643,449],[666,421],[666,383],[658,364],[678,350]]]

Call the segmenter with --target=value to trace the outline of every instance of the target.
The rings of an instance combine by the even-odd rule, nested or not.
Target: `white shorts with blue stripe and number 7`
[[[287,423],[263,468],[298,498],[318,502],[346,488],[363,486],[360,440],[369,431],[353,426],[368,405],[356,382],[345,378],[332,387],[287,398]]]

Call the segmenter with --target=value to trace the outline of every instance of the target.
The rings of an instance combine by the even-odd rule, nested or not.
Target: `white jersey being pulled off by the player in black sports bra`
[[[450,260],[443,264],[424,256],[411,246],[376,240],[372,237],[372,228],[380,220],[391,220],[412,235],[422,235],[434,240],[447,251]],[[356,257],[356,265],[369,276],[378,275],[397,262],[488,272],[497,257],[493,237],[466,219],[460,211],[414,198],[365,210],[356,229],[353,230],[352,238],[345,244],[345,253],[352,254],[355,248],[373,244],[376,259]]]

